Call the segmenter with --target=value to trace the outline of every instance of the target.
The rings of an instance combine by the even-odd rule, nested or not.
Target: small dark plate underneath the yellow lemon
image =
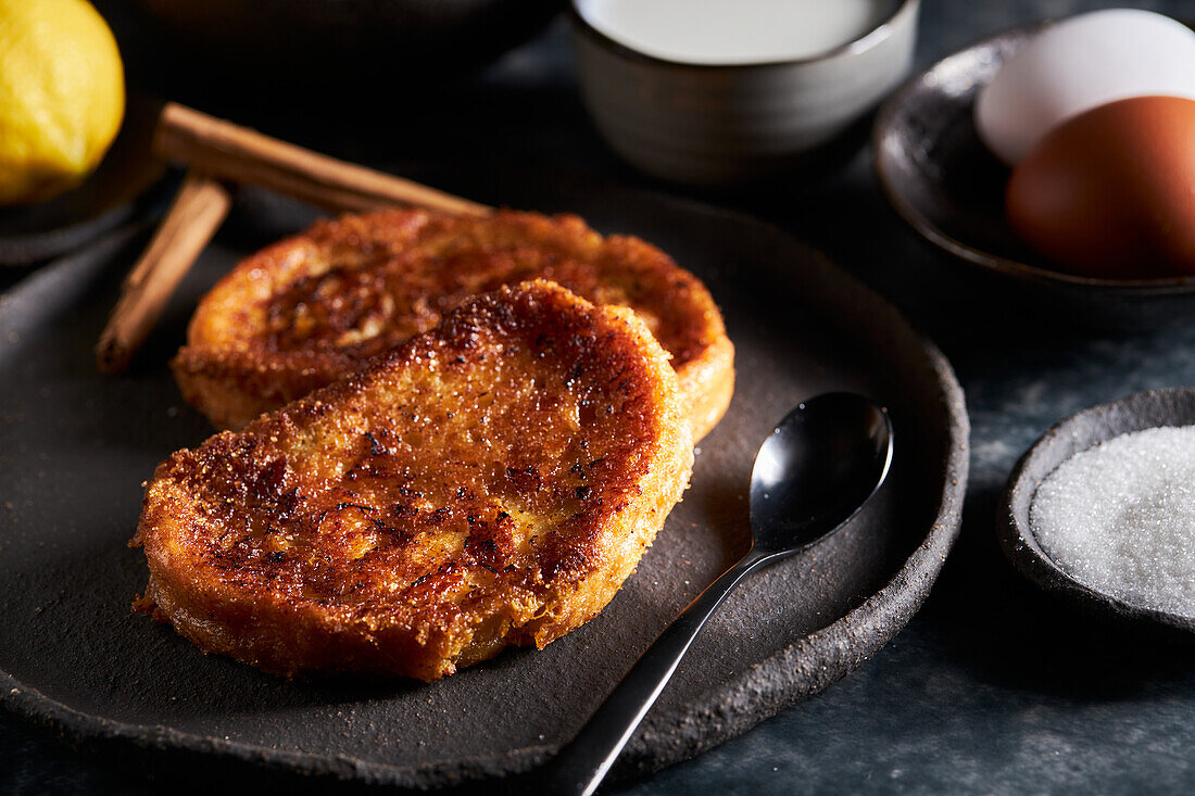
[[[0,208],[0,265],[30,265],[78,249],[161,198],[149,191],[165,172],[149,154],[159,108],[129,97],[120,135],[79,188],[42,204]]]

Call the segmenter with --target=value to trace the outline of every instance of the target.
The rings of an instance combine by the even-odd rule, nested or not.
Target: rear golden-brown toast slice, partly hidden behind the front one
[[[172,362],[183,396],[240,428],[427,331],[466,298],[546,278],[627,306],[672,354],[694,440],[734,392],[734,347],[700,280],[569,215],[382,210],[321,221],[245,259],[200,302]]]

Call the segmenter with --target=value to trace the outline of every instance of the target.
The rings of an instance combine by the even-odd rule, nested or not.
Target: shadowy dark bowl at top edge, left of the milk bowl
[[[391,104],[484,66],[563,7],[563,0],[133,1],[149,18],[149,35],[160,36],[155,55],[182,48],[197,71],[250,85],[366,82],[376,102]]]

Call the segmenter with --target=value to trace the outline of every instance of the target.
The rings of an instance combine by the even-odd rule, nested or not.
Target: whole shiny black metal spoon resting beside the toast
[[[730,589],[755,568],[817,544],[846,525],[880,489],[891,457],[888,412],[863,396],[827,393],[789,412],[755,455],[750,550],[656,638],[549,764],[546,792],[590,796],[598,790]]]

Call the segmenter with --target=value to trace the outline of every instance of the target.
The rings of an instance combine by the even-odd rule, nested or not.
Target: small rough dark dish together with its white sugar
[[[997,529],[1040,587],[1195,631],[1195,388],[1139,392],[1059,422],[1013,469]]]

